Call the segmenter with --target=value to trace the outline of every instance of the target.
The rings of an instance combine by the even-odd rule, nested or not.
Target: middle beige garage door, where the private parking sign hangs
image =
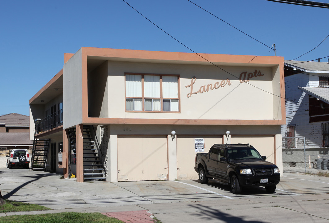
[[[195,138],[204,138],[204,152],[208,153],[210,147],[214,144],[222,144],[222,136],[177,136],[177,179],[195,180],[198,179],[198,173],[194,170],[195,163]]]

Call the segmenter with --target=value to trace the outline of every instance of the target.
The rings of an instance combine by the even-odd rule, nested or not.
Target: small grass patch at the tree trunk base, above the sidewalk
[[[6,200],[6,204],[0,206],[0,213],[16,212],[16,211],[43,211],[43,210],[52,210],[52,209],[36,204],[16,202],[11,200]]]

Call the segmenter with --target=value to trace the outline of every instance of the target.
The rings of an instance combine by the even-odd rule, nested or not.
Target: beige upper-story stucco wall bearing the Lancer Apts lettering
[[[281,118],[280,100],[272,93],[279,90],[279,70],[272,67],[221,66],[222,71],[213,65],[187,65],[163,63],[108,62],[108,98],[109,117],[111,118],[171,118],[171,119],[246,119],[263,120]],[[263,76],[250,79],[248,83],[240,83],[242,72],[261,71]],[[175,74],[180,75],[180,113],[125,112],[124,73]],[[193,77],[193,92],[202,86],[215,84],[227,79],[231,85],[209,90],[203,93],[187,95]],[[275,77],[273,86],[272,80]],[[261,90],[261,89],[263,90]],[[273,89],[275,88],[275,89]],[[115,95],[115,96],[114,96]]]

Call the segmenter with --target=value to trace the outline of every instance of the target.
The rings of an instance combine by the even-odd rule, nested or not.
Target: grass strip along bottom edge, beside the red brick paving
[[[78,212],[62,212],[54,214],[29,214],[29,215],[12,215],[0,217],[0,222],[15,223],[123,223],[116,218],[105,216],[101,213],[78,213]]]

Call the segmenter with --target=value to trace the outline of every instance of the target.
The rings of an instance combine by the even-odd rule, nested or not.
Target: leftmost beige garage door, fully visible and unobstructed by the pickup
[[[118,181],[166,180],[166,136],[118,136]]]

